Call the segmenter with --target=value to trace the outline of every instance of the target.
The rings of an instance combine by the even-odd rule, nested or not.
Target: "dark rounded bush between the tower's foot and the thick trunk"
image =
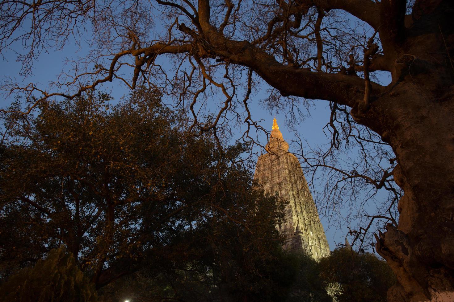
[[[386,301],[386,293],[396,280],[384,260],[347,248],[336,249],[321,259],[319,270],[338,302]]]

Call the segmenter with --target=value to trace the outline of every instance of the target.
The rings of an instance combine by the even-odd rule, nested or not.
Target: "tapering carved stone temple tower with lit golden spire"
[[[266,192],[278,192],[279,197],[290,202],[283,224],[276,225],[277,230],[286,234],[283,248],[302,249],[318,259],[327,256],[330,247],[300,162],[288,148],[274,119],[265,147],[267,153],[258,158],[254,178],[264,184]]]

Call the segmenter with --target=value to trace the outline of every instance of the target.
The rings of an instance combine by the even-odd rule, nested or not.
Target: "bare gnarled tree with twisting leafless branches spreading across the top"
[[[0,50],[22,43],[23,74],[69,38],[87,38],[91,48],[54,91],[15,81],[3,89],[24,93],[30,112],[114,79],[131,88],[148,83],[167,88],[199,131],[225,129],[228,112],[257,126],[247,104],[259,79],[272,87],[271,106],[329,101],[332,149],[356,141],[395,153],[374,177],[339,174],[339,182],[362,179],[391,191],[395,182],[405,192],[391,201],[399,200],[398,225],[391,212],[382,216],[390,223],[375,244],[397,276],[390,299],[453,300],[453,10],[451,0],[4,1]],[[174,68],[161,64],[163,56]],[[389,72],[391,83],[374,82],[375,71]],[[220,110],[203,120],[197,105],[217,100],[209,98],[216,89]]]

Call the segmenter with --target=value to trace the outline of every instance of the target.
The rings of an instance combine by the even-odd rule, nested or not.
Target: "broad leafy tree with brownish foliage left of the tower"
[[[155,91],[108,102],[92,93],[42,103],[30,124],[5,117],[15,123],[0,162],[3,273],[64,244],[98,288],[145,264],[172,270],[207,253],[256,276],[281,244],[274,225],[284,205],[252,182],[239,161],[245,146],[221,156],[213,135],[185,133]]]

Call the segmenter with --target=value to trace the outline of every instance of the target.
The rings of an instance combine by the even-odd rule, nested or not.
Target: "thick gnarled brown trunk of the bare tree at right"
[[[405,80],[366,113],[352,110],[392,146],[405,191],[399,226],[376,244],[398,279],[390,301],[454,301],[454,70],[427,72],[423,63],[407,64]]]

